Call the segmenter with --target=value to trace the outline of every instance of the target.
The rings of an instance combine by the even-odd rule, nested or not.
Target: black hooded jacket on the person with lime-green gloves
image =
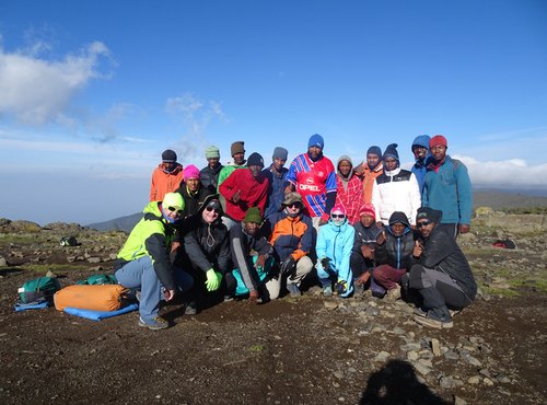
[[[218,196],[208,196],[199,210],[185,220],[183,261],[186,266],[194,265],[203,273],[214,268],[224,274],[231,263],[228,228],[220,215],[212,223],[207,223],[201,216],[207,202],[214,197]]]

